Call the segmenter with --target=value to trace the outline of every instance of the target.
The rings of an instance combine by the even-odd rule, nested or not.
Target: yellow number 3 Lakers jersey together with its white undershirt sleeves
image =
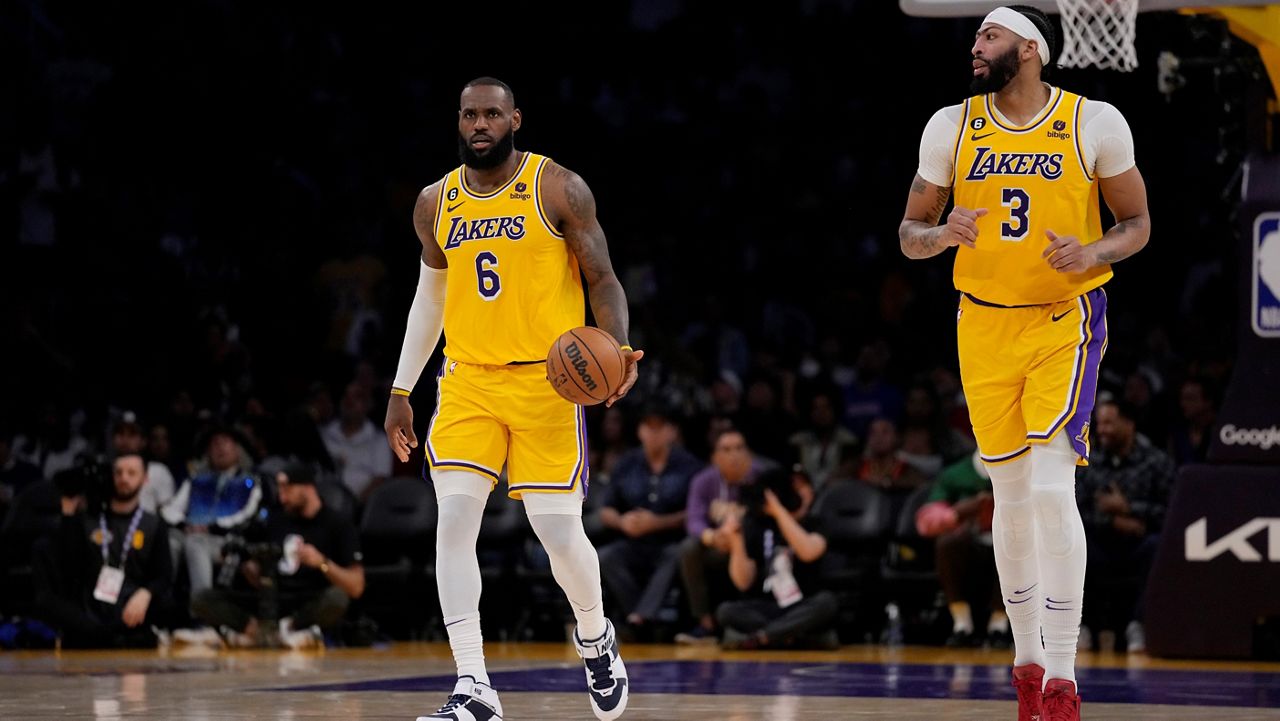
[[[1106,283],[1107,265],[1053,270],[1042,257],[1046,232],[1075,236],[1082,245],[1101,238],[1097,179],[1133,165],[1133,137],[1120,113],[1057,87],[1025,126],[1001,115],[991,95],[938,111],[925,128],[920,177],[951,186],[957,206],[987,209],[977,222],[977,250],[956,248],[956,289],[1027,306],[1070,300]]]

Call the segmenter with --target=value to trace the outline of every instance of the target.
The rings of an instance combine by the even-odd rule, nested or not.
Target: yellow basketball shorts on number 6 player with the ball
[[[544,364],[468,365],[444,359],[426,432],[430,469],[463,470],[507,494],[586,492],[586,419],[561,398]],[[492,488],[492,485],[490,485]]]

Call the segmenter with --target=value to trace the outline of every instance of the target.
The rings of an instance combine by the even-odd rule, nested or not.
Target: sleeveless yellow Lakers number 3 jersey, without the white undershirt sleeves
[[[1023,127],[1001,119],[992,96],[970,97],[956,141],[956,205],[986,207],[978,247],[956,248],[956,288],[979,300],[1018,306],[1074,298],[1111,278],[1111,266],[1059,273],[1041,255],[1046,231],[1082,245],[1102,237],[1098,188],[1084,166],[1084,99],[1051,88],[1044,109]]]

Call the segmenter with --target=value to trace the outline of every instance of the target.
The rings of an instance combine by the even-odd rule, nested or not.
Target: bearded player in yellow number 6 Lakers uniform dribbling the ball
[[[623,343],[635,384],[644,355],[627,342],[627,300],[613,274],[595,198],[575,173],[515,149],[522,117],[511,88],[477,78],[462,90],[462,166],[429,186],[413,209],[422,266],[387,407],[387,438],[401,458],[417,447],[408,393],[445,334],[426,462],[439,501],[435,576],[458,681],[435,713],[453,721],[502,718],[480,638],[476,537],[485,501],[507,467],[577,616],[575,647],[598,718],[626,709],[628,680],[604,617],[600,565],[582,530],[586,429],[582,409],[547,380],[556,338],[584,323],[586,275],[600,328]]]

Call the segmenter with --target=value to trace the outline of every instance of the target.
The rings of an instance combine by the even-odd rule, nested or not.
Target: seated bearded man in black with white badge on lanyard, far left
[[[63,489],[61,523],[36,548],[35,583],[42,620],[64,647],[155,647],[154,629],[170,624],[169,534],[140,497],[147,466],[140,453],[118,456],[99,508],[86,496],[101,490]]]

